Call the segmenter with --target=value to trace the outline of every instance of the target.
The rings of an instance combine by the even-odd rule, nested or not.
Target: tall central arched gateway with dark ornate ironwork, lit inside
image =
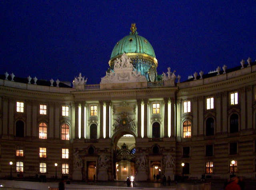
[[[135,174],[135,138],[133,135],[123,135],[116,143],[114,150],[116,180],[126,180]]]

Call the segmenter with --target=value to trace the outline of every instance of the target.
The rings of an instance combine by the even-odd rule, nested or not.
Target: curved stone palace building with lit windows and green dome
[[[255,61],[180,82],[132,25],[109,65],[97,85],[0,76],[0,177],[255,178]]]

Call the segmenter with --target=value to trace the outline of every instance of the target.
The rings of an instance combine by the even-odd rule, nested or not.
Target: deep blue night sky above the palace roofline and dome
[[[256,1],[0,2],[0,74],[100,83],[116,43],[132,23],[153,46],[158,74],[181,81],[256,59]]]

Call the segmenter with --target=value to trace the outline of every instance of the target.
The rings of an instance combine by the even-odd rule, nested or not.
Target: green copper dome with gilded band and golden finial
[[[156,77],[158,61],[154,49],[146,38],[138,35],[135,24],[132,24],[130,29],[130,35],[125,36],[116,43],[108,62],[110,69],[113,70],[114,61],[120,59],[122,54],[126,53],[134,68],[144,75],[148,81],[158,80]]]

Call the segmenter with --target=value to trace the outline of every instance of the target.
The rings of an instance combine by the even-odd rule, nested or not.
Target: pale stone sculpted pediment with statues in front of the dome
[[[106,83],[134,83],[147,82],[145,76],[141,75],[125,53],[122,54],[121,59],[116,58],[114,61],[114,70],[106,71],[106,76],[101,78],[101,84]]]

